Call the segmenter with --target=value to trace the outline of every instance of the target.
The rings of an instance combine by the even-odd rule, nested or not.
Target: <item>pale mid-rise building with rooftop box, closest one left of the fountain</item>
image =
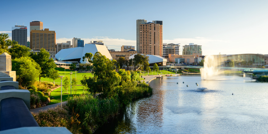
[[[202,55],[202,46],[189,43],[189,45],[183,46],[182,54],[183,55],[193,55],[193,54]]]

